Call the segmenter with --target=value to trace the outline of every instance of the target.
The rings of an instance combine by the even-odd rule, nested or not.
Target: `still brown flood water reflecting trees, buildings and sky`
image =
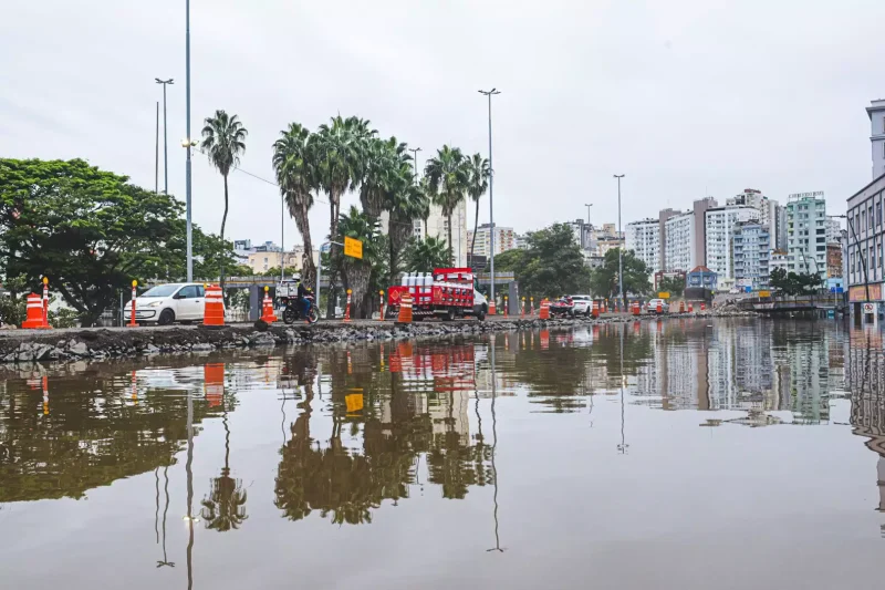
[[[882,588],[883,366],[671,320],[7,368],[0,587]]]

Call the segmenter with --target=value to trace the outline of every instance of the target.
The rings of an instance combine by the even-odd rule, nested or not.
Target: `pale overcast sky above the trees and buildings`
[[[883,22],[882,0],[192,0],[192,134],[216,108],[237,113],[241,166],[267,178],[280,130],[336,113],[421,162],[447,143],[488,155],[477,90],[497,86],[496,221],[520,232],[585,217],[585,203],[593,222],[616,221],[613,174],[624,224],[743,188],[824,190],[843,213],[871,179]],[[184,0],[6,2],[0,55],[0,156],[83,157],[148,188],[154,79],[174,77],[169,192],[184,200]],[[232,173],[230,189],[228,237],[279,242],[277,188]],[[195,154],[195,222],[217,232],[222,204]],[[317,204],[314,240],[327,219]]]

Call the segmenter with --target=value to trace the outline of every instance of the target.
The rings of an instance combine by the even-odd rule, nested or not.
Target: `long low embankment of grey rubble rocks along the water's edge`
[[[705,317],[754,317],[746,312],[706,311],[666,315],[663,319]],[[639,321],[656,321],[655,315],[642,315]],[[597,320],[496,319],[455,322],[360,322],[351,325],[320,322],[311,327],[293,327],[259,322],[256,325],[228,325],[221,329],[200,327],[139,328],[133,330],[83,329],[65,331],[14,331],[0,335],[0,362],[31,363],[35,361],[105,360],[144,354],[210,352],[228,349],[273,348],[323,342],[355,342],[400,340],[445,334],[475,334],[537,328],[593,325],[637,321],[633,317],[610,317]]]

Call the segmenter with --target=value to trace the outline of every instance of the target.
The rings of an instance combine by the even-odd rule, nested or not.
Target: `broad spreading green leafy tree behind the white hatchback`
[[[184,206],[82,159],[0,159],[0,271],[50,288],[84,325],[114,307],[136,279],[186,275]],[[195,277],[215,279],[232,249],[194,227]],[[15,294],[15,293],[13,293]]]

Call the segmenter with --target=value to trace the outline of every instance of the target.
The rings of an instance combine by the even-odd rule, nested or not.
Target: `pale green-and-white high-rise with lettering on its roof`
[[[790,195],[787,201],[787,270],[826,279],[826,201],[823,192]]]

